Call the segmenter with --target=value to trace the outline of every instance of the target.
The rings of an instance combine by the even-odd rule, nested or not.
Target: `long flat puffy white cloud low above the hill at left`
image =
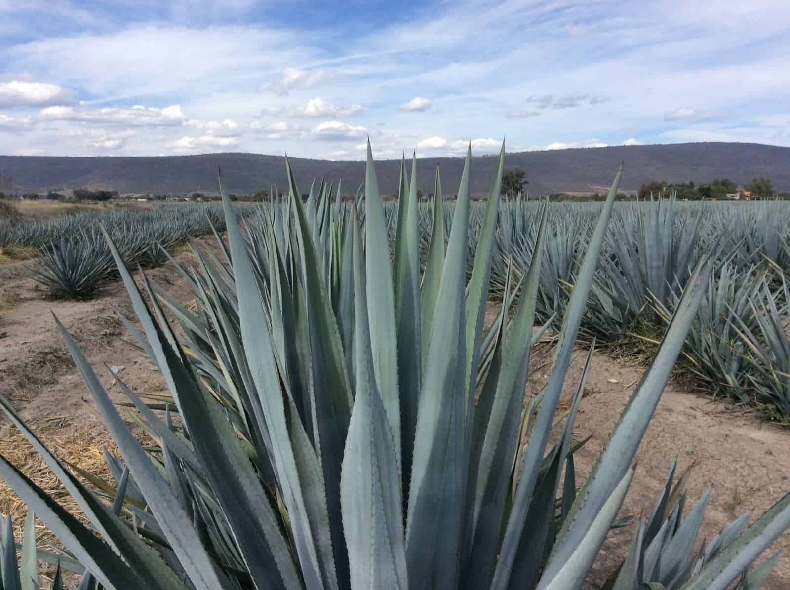
[[[182,126],[186,123],[186,116],[181,110],[181,105],[174,104],[170,107],[143,107],[136,104],[134,107],[103,107],[91,108],[85,105],[77,107],[57,105],[43,108],[39,114],[41,119],[51,121],[73,121],[85,123],[101,123],[103,125],[122,126]]]

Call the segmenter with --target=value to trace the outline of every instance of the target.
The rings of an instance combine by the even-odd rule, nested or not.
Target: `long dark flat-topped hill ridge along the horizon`
[[[775,190],[790,190],[790,148],[747,143],[689,143],[628,145],[610,148],[574,148],[545,152],[514,152],[507,167],[523,167],[532,195],[559,192],[592,192],[611,183],[621,160],[626,163],[625,190],[636,190],[642,182],[709,182],[727,177],[739,183],[755,176],[773,179]],[[355,191],[364,180],[364,162],[337,162],[292,158],[301,190],[313,178],[342,179],[344,192]],[[495,156],[476,157],[472,162],[472,193],[487,194],[494,173]],[[419,188],[433,191],[434,168],[441,165],[446,193],[457,190],[461,158],[420,160]],[[216,191],[216,170],[229,190],[253,193],[276,182],[286,186],[282,156],[253,153],[213,153],[198,156],[151,157],[62,157],[0,156],[0,170],[13,177],[16,190],[43,191],[79,187],[114,189],[122,193],[187,193]],[[376,173],[382,194],[397,190],[398,160],[378,161]]]

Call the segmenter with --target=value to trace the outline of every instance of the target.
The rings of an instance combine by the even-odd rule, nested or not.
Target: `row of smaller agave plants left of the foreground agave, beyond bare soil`
[[[167,261],[167,250],[215,229],[224,231],[219,205],[85,212],[43,223],[17,226],[19,241],[35,245],[33,278],[56,298],[90,299],[119,277],[100,225],[129,265],[153,267]]]

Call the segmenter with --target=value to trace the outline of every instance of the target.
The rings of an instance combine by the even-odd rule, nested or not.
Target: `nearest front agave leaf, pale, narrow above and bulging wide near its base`
[[[352,588],[408,588],[392,428],[373,372],[361,238],[354,227],[356,396],[340,480]]]

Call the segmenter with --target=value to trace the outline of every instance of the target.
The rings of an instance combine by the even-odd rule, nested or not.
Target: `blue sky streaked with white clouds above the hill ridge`
[[[0,153],[790,146],[788,0],[0,0]]]

